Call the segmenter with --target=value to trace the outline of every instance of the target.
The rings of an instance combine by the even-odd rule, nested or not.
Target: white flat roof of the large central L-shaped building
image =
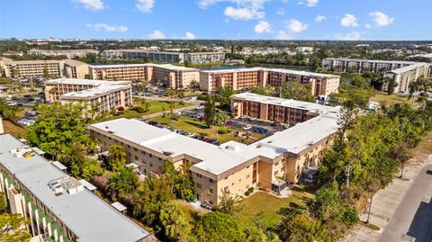
[[[250,145],[229,141],[215,146],[138,120],[104,121],[92,124],[91,127],[130,140],[168,157],[183,154],[195,157],[202,161],[193,165],[194,167],[213,175],[220,175],[253,157],[275,158],[287,152],[298,154],[338,130],[338,107],[301,103],[304,109],[318,109],[320,115]]]

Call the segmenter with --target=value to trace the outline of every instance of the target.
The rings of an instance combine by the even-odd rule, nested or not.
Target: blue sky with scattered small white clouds
[[[0,38],[432,40],[431,0],[1,0]]]

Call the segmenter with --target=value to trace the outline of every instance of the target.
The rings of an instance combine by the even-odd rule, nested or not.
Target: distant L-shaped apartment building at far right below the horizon
[[[322,69],[336,72],[382,73],[384,77],[392,77],[397,86],[395,93],[409,93],[410,82],[419,76],[427,78],[430,75],[431,65],[423,62],[403,60],[376,60],[354,58],[325,58],[322,60]],[[386,89],[386,86],[383,86]]]

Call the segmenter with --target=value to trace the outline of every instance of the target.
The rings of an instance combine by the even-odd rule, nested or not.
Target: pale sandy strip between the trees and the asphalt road
[[[375,193],[369,221],[380,227],[380,230],[369,229],[363,225],[357,224],[353,229],[348,231],[346,237],[340,241],[378,241],[383,233],[383,228],[392,220],[394,212],[400,206],[405,194],[410,190],[411,184],[419,175],[419,171],[427,164],[432,164],[432,155],[421,160],[415,158],[411,159],[410,164],[405,166],[403,179],[394,178],[392,184],[389,184],[386,188]],[[367,220],[367,210],[360,215],[360,220]]]

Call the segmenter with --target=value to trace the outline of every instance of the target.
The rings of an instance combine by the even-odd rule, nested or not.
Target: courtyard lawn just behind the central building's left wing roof
[[[231,132],[228,134],[218,134],[216,135],[217,129],[226,129],[225,127],[217,127],[217,126],[211,126],[210,129],[208,129],[205,125],[204,121],[195,121],[193,118],[180,116],[177,121],[170,120],[167,116],[166,117],[155,117],[148,119],[148,121],[157,121],[160,124],[168,125],[172,127],[175,130],[184,130],[186,132],[192,132],[195,134],[200,134],[205,137],[209,137],[212,139],[218,139],[220,143],[227,142],[229,140],[236,140],[238,142],[246,142],[251,143],[257,139],[261,139],[263,136],[257,133],[252,132],[252,138],[250,139],[242,139],[238,137],[234,137],[234,133],[236,132],[236,129],[231,129]],[[239,131],[239,130],[238,130]]]

